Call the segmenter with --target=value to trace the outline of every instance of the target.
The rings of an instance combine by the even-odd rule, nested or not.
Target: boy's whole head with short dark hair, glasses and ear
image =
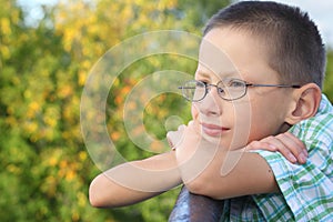
[[[273,2],[233,4],[209,21],[200,82],[184,88],[201,97],[192,103],[193,120],[205,139],[229,149],[285,132],[315,114],[324,65],[321,37],[307,16]]]

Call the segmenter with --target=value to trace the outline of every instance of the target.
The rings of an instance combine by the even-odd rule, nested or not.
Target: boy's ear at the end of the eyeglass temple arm
[[[315,83],[307,83],[294,90],[291,109],[285,122],[293,125],[297,122],[314,117],[322,99],[321,89]]]

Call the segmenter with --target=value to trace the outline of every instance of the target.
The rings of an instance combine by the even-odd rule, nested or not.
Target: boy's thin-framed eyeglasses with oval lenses
[[[179,87],[179,89],[182,90],[182,94],[186,100],[199,102],[205,98],[212,87],[216,88],[219,95],[226,101],[238,100],[244,97],[249,87],[301,88],[301,85],[297,84],[253,84],[239,79],[228,79],[218,82],[218,84],[190,80]]]

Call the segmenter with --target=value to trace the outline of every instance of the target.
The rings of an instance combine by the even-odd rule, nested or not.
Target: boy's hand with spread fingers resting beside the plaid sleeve
[[[245,150],[268,150],[280,152],[292,163],[305,163],[307,151],[304,143],[290,132],[271,135],[260,141],[251,142]]]

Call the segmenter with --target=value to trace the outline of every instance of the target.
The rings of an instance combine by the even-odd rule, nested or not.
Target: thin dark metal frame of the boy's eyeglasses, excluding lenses
[[[238,98],[234,98],[234,99],[225,99],[223,97],[221,97],[220,92],[218,91],[218,94],[221,99],[225,100],[225,101],[233,101],[233,100],[238,100],[238,99],[241,99],[243,97],[245,97],[245,94],[248,93],[248,88],[249,87],[276,87],[276,88],[293,88],[293,89],[300,89],[302,85],[300,84],[255,84],[255,83],[250,83],[250,82],[246,82],[244,80],[240,80],[240,79],[231,79],[231,80],[236,80],[239,82],[242,82],[244,84],[244,93]],[[191,101],[191,102],[200,102],[202,101],[206,94],[209,93],[209,87],[215,87],[218,90],[219,90],[219,83],[223,82],[223,80],[219,81],[216,84],[211,84],[211,83],[206,83],[206,82],[203,82],[203,81],[199,81],[199,80],[190,80],[190,81],[186,81],[184,82],[183,84],[188,83],[188,82],[200,82],[200,83],[203,83],[204,85],[204,95],[200,99],[200,100],[193,100],[193,99],[189,99],[188,97],[185,97],[185,93],[184,93],[184,85],[181,85],[181,87],[178,87],[178,89],[182,90],[182,95],[183,98],[185,98],[188,101]],[[221,89],[221,88],[220,88]]]

